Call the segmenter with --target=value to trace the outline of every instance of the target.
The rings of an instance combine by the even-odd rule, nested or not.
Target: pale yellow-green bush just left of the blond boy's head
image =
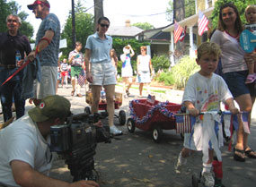
[[[185,87],[190,75],[199,71],[199,65],[196,63],[195,58],[190,58],[189,55],[185,55],[181,58],[179,64],[172,67],[172,76],[174,77],[173,86],[177,89]]]

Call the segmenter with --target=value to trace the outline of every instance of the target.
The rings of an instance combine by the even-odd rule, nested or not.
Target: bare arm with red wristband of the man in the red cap
[[[37,48],[37,52],[40,52],[42,51],[43,49],[45,49],[46,47],[49,46],[49,43],[51,41],[51,39],[54,37],[54,31],[53,30],[47,30],[45,32],[45,35],[43,36],[43,38],[46,38],[46,39],[43,39],[43,40],[40,40],[40,42],[38,43],[38,46],[36,47]],[[36,52],[35,51],[31,51],[31,53],[28,55],[28,59],[30,61],[33,61],[36,57]]]

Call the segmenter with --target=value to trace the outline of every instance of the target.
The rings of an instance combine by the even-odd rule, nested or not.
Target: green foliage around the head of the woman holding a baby
[[[244,16],[245,8],[249,4],[255,4],[255,0],[246,0],[246,1],[245,0],[218,0],[218,1],[216,1],[214,11],[210,16],[210,19],[212,20],[212,23],[213,23],[213,28],[217,27],[218,14],[219,14],[221,5],[230,3],[230,2],[233,3],[237,7],[243,24],[246,22],[245,16]]]

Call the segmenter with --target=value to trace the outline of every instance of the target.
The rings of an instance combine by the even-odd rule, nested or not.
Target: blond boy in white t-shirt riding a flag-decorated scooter
[[[225,102],[232,114],[237,114],[238,109],[234,106],[233,97],[227,88],[225,81],[216,75],[221,49],[216,43],[205,42],[198,48],[197,64],[199,72],[190,76],[187,82],[182,105],[186,107],[187,113],[196,116],[196,123],[192,133],[185,133],[184,148],[174,166],[175,172],[181,174],[182,168],[186,165],[186,157],[195,150],[203,150],[203,123],[199,118],[200,112],[220,110],[220,102]],[[208,149],[208,160],[203,163],[202,177],[206,186],[213,186],[215,179],[211,172],[213,162],[213,149]]]

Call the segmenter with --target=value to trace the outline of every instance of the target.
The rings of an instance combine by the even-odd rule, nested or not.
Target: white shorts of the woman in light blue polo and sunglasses
[[[111,63],[91,64],[91,74],[93,76],[93,85],[104,86],[117,84],[116,70]]]

